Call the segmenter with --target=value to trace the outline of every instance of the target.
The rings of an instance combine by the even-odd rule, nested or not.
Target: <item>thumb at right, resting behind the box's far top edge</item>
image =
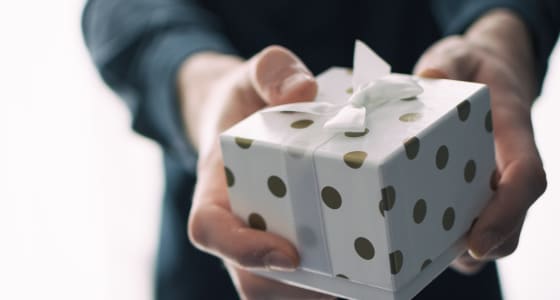
[[[472,80],[479,60],[470,46],[459,37],[448,37],[429,48],[414,68],[427,78]]]

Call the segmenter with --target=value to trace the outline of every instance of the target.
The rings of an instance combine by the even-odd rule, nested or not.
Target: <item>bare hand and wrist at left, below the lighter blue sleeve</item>
[[[243,299],[330,299],[248,272],[247,268],[294,270],[296,249],[284,238],[247,227],[231,211],[218,134],[269,105],[312,100],[317,83],[305,65],[281,47],[250,60],[197,54],[179,75],[187,133],[199,150],[198,181],[188,233],[201,250],[225,262]]]

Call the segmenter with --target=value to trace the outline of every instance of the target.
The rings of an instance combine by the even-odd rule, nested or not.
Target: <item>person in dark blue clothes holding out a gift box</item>
[[[95,64],[129,105],[133,128],[164,151],[156,297],[330,298],[247,271],[289,272],[298,253],[231,212],[218,134],[261,108],[313,99],[313,74],[351,66],[360,38],[396,72],[489,86],[497,190],[453,264],[471,275],[448,270],[417,299],[500,298],[491,261],[515,250],[546,188],[530,109],[554,44],[549,20],[545,2],[523,0],[88,1]]]

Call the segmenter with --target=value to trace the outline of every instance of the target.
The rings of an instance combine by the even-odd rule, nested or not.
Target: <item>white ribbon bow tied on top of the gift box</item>
[[[391,66],[362,41],[354,48],[353,92],[342,105],[328,102],[301,102],[271,107],[263,112],[295,111],[315,115],[334,114],[324,128],[364,131],[368,111],[388,101],[416,97],[424,90],[410,77],[391,75]]]

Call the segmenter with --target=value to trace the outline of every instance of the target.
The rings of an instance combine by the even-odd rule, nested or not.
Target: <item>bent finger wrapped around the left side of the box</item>
[[[286,239],[247,227],[229,207],[224,165],[219,151],[199,172],[188,232],[200,249],[238,266],[293,270],[297,250]]]

